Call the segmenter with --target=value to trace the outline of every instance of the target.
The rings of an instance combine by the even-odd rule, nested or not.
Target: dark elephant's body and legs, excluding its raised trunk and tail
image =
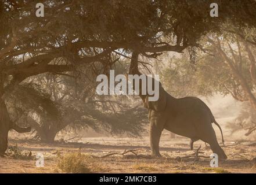
[[[218,154],[219,158],[227,158],[219,146],[212,128],[212,123],[216,122],[214,116],[208,106],[199,98],[174,98],[160,84],[158,101],[148,101],[147,95],[142,97],[142,100],[143,105],[149,110],[152,156],[161,156],[159,140],[163,129],[167,129],[193,141],[201,139],[210,145],[213,153]]]

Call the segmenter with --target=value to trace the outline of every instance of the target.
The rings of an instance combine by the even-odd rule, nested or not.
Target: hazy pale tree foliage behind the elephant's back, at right
[[[224,29],[225,26],[227,25],[223,26]],[[230,25],[228,27],[232,29]],[[253,33],[254,29],[247,29],[246,36],[230,31],[222,31],[222,35],[209,34],[202,40],[205,43],[204,51],[207,53],[197,52],[196,64],[189,62],[188,55],[172,59],[163,72],[163,82],[176,97],[207,96],[219,92],[232,95],[237,101],[249,102],[251,108],[245,106],[246,111],[255,111],[256,48],[248,41],[253,40]],[[235,120],[240,120],[240,128],[248,129],[247,135],[255,130],[253,114],[249,115],[241,112]],[[248,119],[251,120],[250,123]]]

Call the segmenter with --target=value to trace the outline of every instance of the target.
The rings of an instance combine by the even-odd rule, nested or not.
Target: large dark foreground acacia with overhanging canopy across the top
[[[218,2],[218,1],[217,1]],[[45,72],[73,71],[80,65],[113,64],[110,56],[136,50],[146,57],[181,52],[234,15],[237,27],[248,22],[255,1],[219,1],[223,16],[208,16],[210,1],[42,1],[0,2],[0,153],[6,149],[10,119],[6,97],[19,83]],[[232,7],[230,9],[230,7]],[[28,56],[28,57],[26,57]],[[59,62],[60,58],[63,62]]]

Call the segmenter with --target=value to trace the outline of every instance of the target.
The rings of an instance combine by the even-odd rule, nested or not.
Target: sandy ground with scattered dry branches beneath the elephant
[[[82,142],[82,143],[81,143]],[[83,138],[72,143],[38,143],[26,140],[10,140],[10,146],[18,146],[24,153],[31,151],[32,156],[44,154],[44,167],[35,165],[35,158],[19,159],[13,156],[0,157],[0,173],[57,173],[57,153],[81,153],[92,157],[102,157],[109,153],[134,153],[96,158],[100,166],[96,173],[256,173],[256,145],[245,140],[229,140],[223,147],[228,160],[219,161],[219,168],[210,167],[212,153],[203,142],[195,142],[194,150],[189,149],[189,139],[170,139],[164,135],[160,142],[163,157],[151,158],[149,138]],[[201,145],[199,158],[194,152]],[[202,157],[200,157],[202,156]]]

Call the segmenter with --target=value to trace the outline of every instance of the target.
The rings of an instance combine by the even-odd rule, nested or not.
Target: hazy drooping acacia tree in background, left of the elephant
[[[75,73],[45,73],[25,80],[8,98],[12,120],[31,125],[34,139],[41,142],[53,142],[63,129],[91,127],[131,136],[143,133],[147,116],[142,106],[133,108],[136,103],[131,98],[127,102],[125,97],[97,96],[95,82],[82,74],[72,76]]]

